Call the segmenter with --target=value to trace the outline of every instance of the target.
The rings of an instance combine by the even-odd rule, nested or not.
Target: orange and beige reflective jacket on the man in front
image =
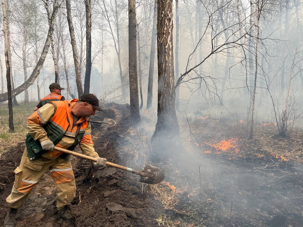
[[[72,107],[78,99],[55,101],[45,104],[27,119],[28,135],[25,144],[30,160],[39,156],[55,160],[59,156],[68,158],[68,155],[59,151],[42,150],[40,141],[50,139],[55,146],[73,150],[80,145],[82,153],[98,157],[93,147],[91,125],[88,118],[80,117],[73,126]]]

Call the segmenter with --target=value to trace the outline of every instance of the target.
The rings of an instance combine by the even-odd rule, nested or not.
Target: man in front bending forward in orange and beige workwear
[[[88,117],[95,115],[96,110],[102,110],[97,97],[83,94],[80,99],[49,102],[28,117],[26,147],[14,171],[12,192],[6,198],[8,212],[4,227],[15,226],[17,209],[47,170],[55,181],[58,217],[72,219],[67,206],[67,201],[72,202],[76,195],[71,161],[69,155],[54,148],[73,150],[79,144],[82,153],[98,158],[93,163],[95,166],[106,166],[106,159],[95,152],[88,122]]]

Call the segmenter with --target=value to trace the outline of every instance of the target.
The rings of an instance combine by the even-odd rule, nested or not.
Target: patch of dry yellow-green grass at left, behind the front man
[[[20,104],[13,107],[14,132],[9,132],[7,104],[0,105],[0,155],[24,142],[27,134],[26,120],[33,113],[36,104]]]

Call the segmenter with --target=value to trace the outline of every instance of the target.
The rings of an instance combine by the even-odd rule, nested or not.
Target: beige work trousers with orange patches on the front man
[[[55,181],[57,209],[65,207],[67,200],[72,202],[76,196],[76,184],[71,161],[69,159],[49,160],[43,157],[30,161],[25,147],[20,166],[14,171],[15,183],[12,192],[6,198],[8,207],[15,209],[21,207],[48,169]]]

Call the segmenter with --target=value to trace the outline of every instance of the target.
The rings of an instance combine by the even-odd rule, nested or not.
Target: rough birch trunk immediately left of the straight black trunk
[[[65,2],[66,2],[67,22],[68,22],[69,34],[71,36],[72,51],[73,51],[73,57],[74,57],[74,63],[75,63],[78,97],[80,98],[80,96],[83,94],[83,89],[82,89],[79,57],[78,57],[78,52],[77,52],[77,43],[76,43],[75,32],[74,32],[74,27],[73,27],[73,23],[72,23],[71,3],[70,3],[70,0],[65,0]]]

